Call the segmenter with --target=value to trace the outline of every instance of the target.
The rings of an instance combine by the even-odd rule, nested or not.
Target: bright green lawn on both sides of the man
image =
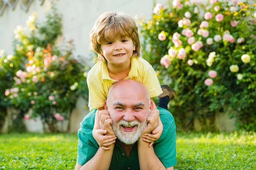
[[[3,134],[0,170],[72,170],[76,134]],[[256,170],[256,133],[177,133],[176,170]]]

